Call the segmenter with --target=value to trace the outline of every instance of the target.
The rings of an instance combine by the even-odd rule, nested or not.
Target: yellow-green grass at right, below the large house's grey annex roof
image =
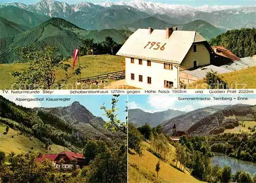
[[[256,66],[221,74],[227,82],[229,89],[256,88]],[[187,89],[206,89],[207,84],[203,80],[190,84]]]

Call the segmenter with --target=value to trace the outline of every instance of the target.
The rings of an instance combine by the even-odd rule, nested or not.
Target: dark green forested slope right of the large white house
[[[256,55],[256,29],[229,30],[209,41],[211,46],[222,45],[239,58]]]

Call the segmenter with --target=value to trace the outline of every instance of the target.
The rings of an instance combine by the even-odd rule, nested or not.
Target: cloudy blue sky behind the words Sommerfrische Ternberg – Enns
[[[213,100],[212,97],[247,97],[248,100]],[[181,101],[178,97],[211,97],[211,100],[190,100]],[[128,109],[141,109],[145,112],[154,113],[166,111],[168,109],[190,112],[208,106],[227,104],[256,104],[255,95],[129,95]]]

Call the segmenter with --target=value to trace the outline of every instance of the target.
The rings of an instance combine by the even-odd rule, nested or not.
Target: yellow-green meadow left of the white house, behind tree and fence
[[[81,70],[81,78],[104,74],[108,72],[116,72],[116,71],[124,70],[123,60],[124,60],[123,57],[111,56],[111,55],[96,55],[96,56],[80,57],[80,66],[84,67]],[[67,64],[70,64],[72,66],[73,58],[70,59],[67,62]],[[15,78],[11,75],[11,73],[14,71],[20,70],[22,68],[25,68],[27,66],[28,66],[28,63],[0,64],[0,74],[5,76],[5,77],[2,77],[2,81],[0,83],[0,89],[7,89],[12,84],[14,84]],[[77,59],[75,69],[78,68],[78,66],[79,64]],[[70,68],[69,73],[72,73],[74,70]],[[57,79],[60,78],[60,76],[64,76],[64,74],[59,70],[57,72]],[[76,85],[78,79],[79,79],[79,75],[73,76],[68,81],[67,87],[64,87],[63,89],[76,89],[76,87],[77,89],[81,89],[81,88],[87,89],[86,87]]]

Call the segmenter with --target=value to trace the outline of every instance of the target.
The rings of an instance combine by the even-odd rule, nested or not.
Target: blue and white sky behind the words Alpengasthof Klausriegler
[[[52,107],[65,107],[70,106],[74,101],[78,101],[82,106],[86,107],[94,116],[102,117],[105,121],[109,121],[108,118],[106,118],[104,114],[104,111],[100,109],[102,104],[104,103],[104,106],[107,109],[111,108],[111,99],[113,95],[3,95],[5,98],[8,98],[9,100],[15,102],[16,104],[19,104],[21,106],[27,107],[27,108],[36,108],[36,107],[45,107],[45,108],[52,108]],[[65,102],[52,102],[52,101],[15,101],[16,98],[71,98],[70,101]],[[117,103],[117,108],[120,110],[117,111],[116,114],[118,114],[117,118],[121,121],[125,121],[125,118],[127,116],[127,112],[124,112],[126,110],[127,106],[127,95],[120,95],[118,97],[119,102]]]

